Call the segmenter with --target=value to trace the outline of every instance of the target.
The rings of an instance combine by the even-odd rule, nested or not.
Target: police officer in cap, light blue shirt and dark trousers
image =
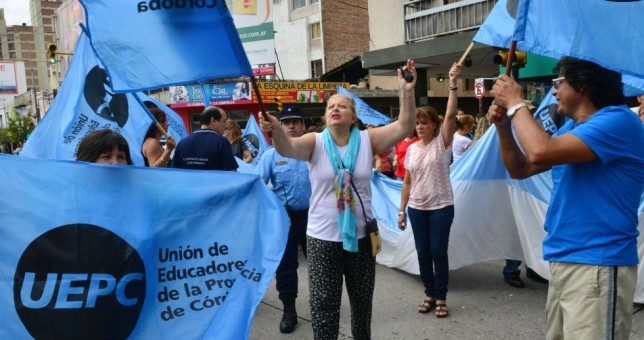
[[[302,112],[297,107],[286,107],[280,112],[280,123],[286,134],[300,137],[306,132]],[[262,154],[257,164],[257,172],[264,181],[270,180],[273,192],[284,203],[291,220],[286,250],[275,279],[279,298],[284,304],[284,314],[280,321],[280,332],[291,333],[297,324],[295,298],[297,297],[298,244],[306,257],[306,224],[308,221],[311,183],[306,162],[282,157],[274,148]]]

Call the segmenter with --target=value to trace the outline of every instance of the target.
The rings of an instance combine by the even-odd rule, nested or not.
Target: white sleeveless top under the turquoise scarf
[[[341,157],[344,156],[346,150],[346,146],[338,147]],[[371,214],[372,163],[373,152],[371,151],[369,133],[366,130],[360,131],[360,150],[358,151],[358,158],[356,159],[356,166],[351,179],[356,189],[358,189],[369,219],[373,216]],[[335,173],[327,156],[321,133],[315,134],[315,148],[307,165],[309,167],[312,193],[306,234],[320,240],[342,242],[340,228],[338,227],[337,200],[335,198]],[[353,197],[356,200],[354,214],[357,235],[358,239],[361,239],[365,237],[364,216],[358,196],[354,193]]]

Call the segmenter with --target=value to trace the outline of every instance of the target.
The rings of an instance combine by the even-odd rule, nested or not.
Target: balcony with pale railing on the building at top
[[[403,6],[405,42],[476,29],[498,0],[415,0]]]

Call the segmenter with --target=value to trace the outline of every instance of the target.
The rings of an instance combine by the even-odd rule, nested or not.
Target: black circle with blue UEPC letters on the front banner
[[[20,257],[16,311],[36,339],[125,339],[143,307],[144,273],[137,251],[111,231],[61,226]]]

